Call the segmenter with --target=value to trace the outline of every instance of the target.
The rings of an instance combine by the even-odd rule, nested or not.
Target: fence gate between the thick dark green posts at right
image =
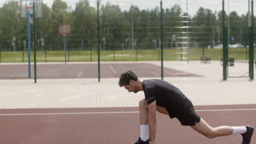
[[[254,79],[254,20],[253,0],[248,26],[225,26],[223,0],[223,80],[227,77],[249,77]],[[229,22],[229,20],[228,20]],[[241,25],[241,24],[240,24]]]

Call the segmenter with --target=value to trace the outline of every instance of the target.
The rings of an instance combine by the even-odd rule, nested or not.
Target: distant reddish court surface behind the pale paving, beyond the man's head
[[[34,66],[31,65],[31,77],[34,77]],[[125,70],[133,70],[139,77],[160,77],[161,67],[150,63],[102,63],[100,64],[102,78],[120,77]],[[28,65],[0,65],[0,79],[28,79]],[[164,68],[166,77],[199,76],[186,71]],[[98,64],[96,63],[67,63],[67,64],[37,64],[37,79],[80,79],[97,78]]]

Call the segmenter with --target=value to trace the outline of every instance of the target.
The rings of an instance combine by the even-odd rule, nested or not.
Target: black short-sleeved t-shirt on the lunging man
[[[144,80],[142,87],[148,105],[156,100],[156,105],[165,107],[171,117],[186,113],[193,106],[177,87],[164,80]]]

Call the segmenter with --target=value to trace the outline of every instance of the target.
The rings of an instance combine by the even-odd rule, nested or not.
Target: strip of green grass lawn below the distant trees
[[[229,49],[229,57],[235,60],[248,59],[245,48]],[[0,52],[0,62],[14,63],[27,62],[27,52]],[[181,54],[182,53],[182,54]],[[254,48],[254,59],[256,57],[256,49]],[[37,51],[37,62],[65,62],[64,51]],[[189,57],[190,61],[199,61],[203,56],[202,49],[185,50],[164,50],[164,61],[181,61],[183,58]],[[211,60],[220,60],[222,58],[222,49],[205,49],[205,57],[211,57]],[[66,61],[68,62],[95,62],[98,59],[97,51],[69,51],[66,53]],[[159,50],[115,50],[101,51],[101,61],[159,61]],[[31,52],[31,62],[34,61],[33,51]]]

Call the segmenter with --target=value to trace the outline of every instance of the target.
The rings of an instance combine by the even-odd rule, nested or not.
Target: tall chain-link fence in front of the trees
[[[229,26],[248,26],[248,2],[225,3],[225,22]],[[97,61],[96,6],[92,0],[43,2],[43,18],[36,19],[37,62],[65,62],[64,39],[58,34],[61,23],[71,25],[71,34],[66,35],[67,62]],[[8,1],[0,7],[1,63],[28,62],[27,23],[20,17],[19,7],[19,1]],[[163,11],[164,61],[222,58],[222,1],[163,1]],[[99,18],[100,61],[160,61],[160,1],[101,1]],[[243,28],[229,32],[232,57],[248,58],[247,34]]]

